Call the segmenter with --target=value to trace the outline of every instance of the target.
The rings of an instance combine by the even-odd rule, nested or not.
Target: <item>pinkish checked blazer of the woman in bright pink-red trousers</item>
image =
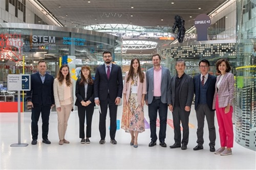
[[[217,76],[217,81],[215,84],[215,94],[214,94],[214,102],[212,103],[212,109],[215,109],[216,98],[217,98],[217,83],[220,80],[220,76]],[[232,100],[234,98],[234,75],[230,72],[227,72],[220,84],[220,88],[218,90],[218,100],[219,107],[226,107],[228,104],[232,105]]]

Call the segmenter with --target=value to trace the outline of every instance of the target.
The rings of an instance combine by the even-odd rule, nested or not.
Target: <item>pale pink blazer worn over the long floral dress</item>
[[[146,94],[146,74],[144,74],[144,82],[140,83],[140,78],[138,78],[138,91],[137,91],[137,102],[141,102],[142,94]],[[128,71],[125,72],[123,93],[126,94],[126,101],[129,101],[130,91],[131,91],[131,80],[127,83]]]

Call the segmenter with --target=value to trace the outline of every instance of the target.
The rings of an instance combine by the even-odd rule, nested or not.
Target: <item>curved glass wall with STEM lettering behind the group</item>
[[[115,54],[121,46],[121,38],[105,33],[82,29],[24,23],[0,23],[0,101],[13,101],[1,97],[7,87],[8,74],[32,74],[37,71],[37,61],[47,61],[47,72],[56,77],[62,56],[73,67],[90,65],[92,74],[103,64],[102,52],[109,50],[118,65],[122,54]],[[24,70],[23,70],[24,66]],[[72,70],[71,70],[72,71]],[[17,101],[17,96],[14,97]]]

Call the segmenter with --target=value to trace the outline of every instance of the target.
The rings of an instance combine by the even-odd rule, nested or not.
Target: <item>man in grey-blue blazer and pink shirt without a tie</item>
[[[161,147],[166,147],[166,122],[168,104],[170,104],[170,71],[161,66],[161,57],[159,54],[152,56],[154,67],[146,71],[146,95],[145,103],[148,106],[148,115],[150,117],[151,142],[148,147],[154,147],[157,141],[156,120],[157,111],[160,118],[159,141]]]

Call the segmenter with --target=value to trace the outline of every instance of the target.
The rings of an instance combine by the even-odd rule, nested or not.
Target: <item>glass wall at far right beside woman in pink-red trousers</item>
[[[237,1],[237,143],[256,151],[256,1]]]

